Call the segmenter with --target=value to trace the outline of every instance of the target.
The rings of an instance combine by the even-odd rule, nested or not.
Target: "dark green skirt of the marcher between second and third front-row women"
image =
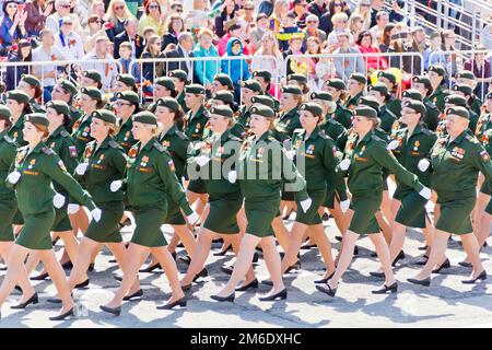
[[[243,207],[243,197],[232,194],[222,198],[209,197],[209,214],[203,228],[220,234],[239,233],[237,212]]]

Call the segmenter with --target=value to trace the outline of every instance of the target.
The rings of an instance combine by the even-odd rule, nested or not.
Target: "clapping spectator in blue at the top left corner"
[[[11,46],[27,37],[24,23],[27,12],[17,10],[17,2],[7,0],[2,7],[3,19],[0,25],[0,56],[7,56]]]

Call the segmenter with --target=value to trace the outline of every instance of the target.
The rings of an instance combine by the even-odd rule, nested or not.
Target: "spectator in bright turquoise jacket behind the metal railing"
[[[194,50],[195,57],[219,57],[219,51],[212,45],[213,33],[209,28],[202,28],[198,33],[198,46]],[[220,67],[216,61],[198,60],[195,62],[195,78],[210,91],[213,77],[219,72]]]

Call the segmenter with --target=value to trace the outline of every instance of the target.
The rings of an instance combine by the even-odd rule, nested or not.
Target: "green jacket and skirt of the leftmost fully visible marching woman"
[[[19,245],[40,250],[52,248],[49,234],[55,221],[52,180],[67,189],[77,202],[95,209],[91,196],[67,173],[63,162],[44,142],[31,152],[27,147],[20,148],[11,171],[21,174],[15,184],[19,209],[24,218],[24,226],[16,240]]]

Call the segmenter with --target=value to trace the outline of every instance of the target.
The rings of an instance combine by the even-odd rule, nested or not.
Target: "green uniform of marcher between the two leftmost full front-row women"
[[[99,243],[119,243],[122,241],[119,222],[125,211],[125,194],[121,189],[112,191],[110,184],[125,178],[125,150],[108,136],[99,145],[95,140],[87,143],[83,162],[87,164],[86,171],[75,176],[102,210],[101,220],[91,222],[85,236]]]

